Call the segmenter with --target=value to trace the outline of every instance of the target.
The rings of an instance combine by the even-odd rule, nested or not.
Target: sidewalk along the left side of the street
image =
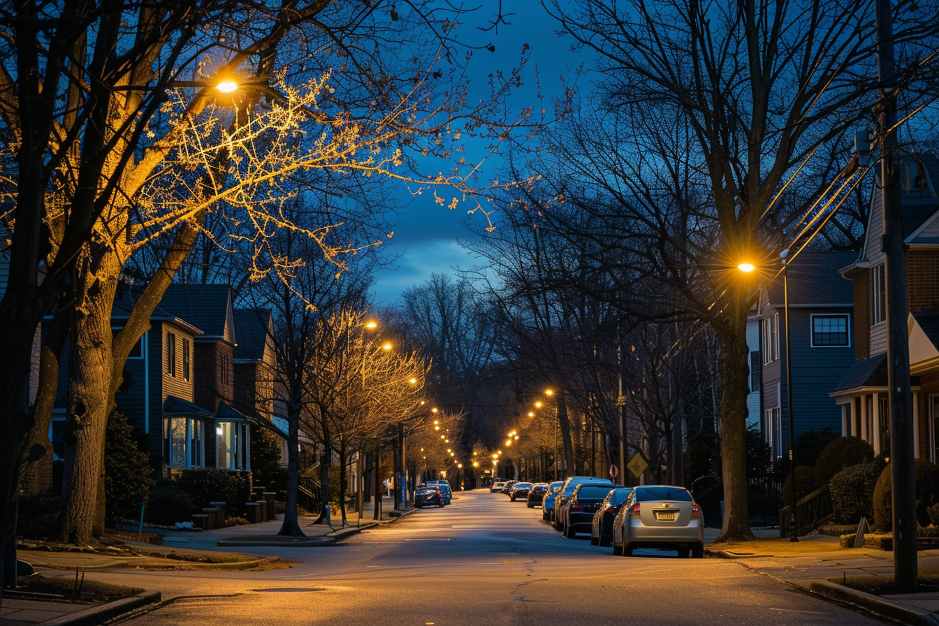
[[[346,527],[342,526],[342,517],[332,515],[332,526],[325,524],[312,523],[316,516],[300,516],[300,529],[308,539],[302,542],[278,542],[273,539],[283,524],[283,515],[278,515],[275,521],[262,524],[249,524],[239,527],[216,528],[215,530],[188,531],[188,530],[164,530],[149,529],[144,527],[145,532],[159,532],[165,535],[162,545],[152,545],[144,542],[126,542],[128,548],[141,548],[148,552],[168,553],[175,552],[177,555],[185,557],[187,554],[215,552],[215,553],[242,553],[237,548],[266,546],[295,548],[298,546],[317,546],[337,542],[349,535],[355,534],[366,528],[373,528],[379,524],[390,524],[400,517],[409,514],[414,509],[406,511],[393,511],[392,503],[388,498],[383,498],[384,507],[388,507],[381,515],[381,520],[373,520],[374,503],[366,502],[362,507],[362,518],[355,511],[346,511]],[[137,528],[128,528],[136,531]],[[240,540],[240,541],[239,541]],[[248,540],[248,541],[245,541]],[[256,541],[251,541],[256,540]],[[114,569],[198,569],[200,565],[205,568],[222,569],[245,569],[252,567],[257,563],[270,557],[251,557],[239,559],[228,564],[211,563],[202,565],[192,561],[172,561],[162,557],[154,556],[135,556],[131,554],[96,554],[92,552],[53,552],[37,550],[20,550],[18,557],[31,563],[38,570],[46,570],[46,575],[58,575],[56,570],[66,570],[69,576],[74,576],[75,568],[81,571],[87,570],[114,570]],[[14,591],[4,592],[3,606],[0,607],[0,623],[3,626],[97,626],[109,619],[118,616],[130,615],[134,612],[143,610],[151,604],[161,602],[159,592],[143,593],[139,596],[124,598],[111,603],[99,604],[79,604],[60,602],[51,599],[42,599],[35,596],[17,597]]]

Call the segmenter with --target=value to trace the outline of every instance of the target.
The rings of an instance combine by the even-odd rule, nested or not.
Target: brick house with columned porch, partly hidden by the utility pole
[[[910,381],[914,455],[935,462],[939,418],[939,160],[904,156],[901,167],[903,240],[907,246]],[[874,184],[863,249],[841,274],[854,285],[854,365],[830,395],[841,409],[841,434],[863,438],[876,452],[889,432],[886,292],[880,185]]]

